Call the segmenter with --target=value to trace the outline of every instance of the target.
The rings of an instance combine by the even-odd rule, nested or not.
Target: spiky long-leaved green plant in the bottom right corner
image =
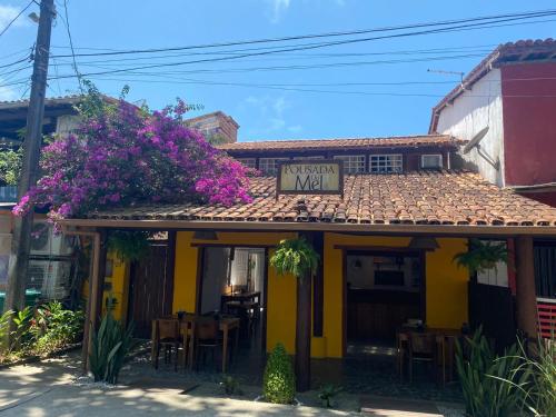
[[[556,416],[556,340],[538,340],[536,355],[528,355],[519,341],[518,366],[507,378],[498,378],[517,388],[524,409],[535,416]],[[512,359],[512,358],[508,358]],[[493,376],[496,378],[496,376]]]

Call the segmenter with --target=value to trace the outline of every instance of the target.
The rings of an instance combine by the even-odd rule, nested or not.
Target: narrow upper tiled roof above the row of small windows
[[[288,150],[346,150],[365,148],[413,148],[427,146],[456,147],[466,143],[449,135],[418,135],[385,138],[337,138],[337,139],[295,139],[266,140],[252,142],[224,143],[218,148],[228,152],[266,152]]]

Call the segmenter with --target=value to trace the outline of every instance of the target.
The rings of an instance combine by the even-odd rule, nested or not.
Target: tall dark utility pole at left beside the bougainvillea
[[[21,199],[37,183],[39,158],[42,145],[42,119],[44,117],[44,95],[47,90],[50,33],[56,14],[53,0],[41,0],[37,47],[34,48],[31,97],[27,111],[27,130],[23,141],[23,166],[18,183],[18,199]],[[27,270],[31,249],[33,210],[22,218],[16,218],[11,241],[10,269],[6,294],[4,311],[24,308]]]

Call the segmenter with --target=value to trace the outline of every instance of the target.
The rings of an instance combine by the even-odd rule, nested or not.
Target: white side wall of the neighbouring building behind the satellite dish
[[[483,128],[489,127],[488,133],[480,141],[485,153],[500,166],[495,169],[477,149],[463,155],[469,166],[476,166],[479,173],[488,181],[504,187],[504,125],[502,108],[500,70],[493,69],[470,91],[460,95],[453,105],[445,107],[439,115],[437,131],[459,139],[471,139]]]

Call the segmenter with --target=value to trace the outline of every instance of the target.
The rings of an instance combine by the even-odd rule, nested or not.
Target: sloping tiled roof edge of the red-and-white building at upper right
[[[444,107],[453,102],[466,89],[485,77],[493,68],[509,63],[553,61],[556,62],[556,41],[552,38],[537,40],[519,40],[499,44],[483,61],[480,61],[464,78],[461,83],[446,95],[434,108],[430,118],[429,133],[435,133],[438,125],[438,117]]]

